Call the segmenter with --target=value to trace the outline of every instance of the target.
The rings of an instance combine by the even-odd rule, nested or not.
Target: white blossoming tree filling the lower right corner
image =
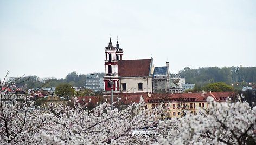
[[[208,97],[209,114],[188,114],[178,120],[159,123],[161,144],[255,144],[256,108],[248,103],[219,103]]]

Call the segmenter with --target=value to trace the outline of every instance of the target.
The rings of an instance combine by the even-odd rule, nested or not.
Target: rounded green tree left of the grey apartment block
[[[71,87],[70,84],[63,83],[56,87],[55,94],[71,97],[74,95],[74,89]]]

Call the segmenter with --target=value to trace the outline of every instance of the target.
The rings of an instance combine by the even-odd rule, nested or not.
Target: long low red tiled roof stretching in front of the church
[[[163,99],[168,99],[166,102],[206,102],[208,96],[212,96],[215,101],[226,101],[221,100],[220,98],[231,97],[233,92],[212,92],[212,93],[174,93],[174,94],[151,94],[151,97],[148,96],[148,93],[120,93],[119,96],[113,96],[113,101],[122,104],[129,105],[133,103],[139,103],[140,96],[143,97],[145,103],[158,103],[162,102]],[[110,103],[110,96],[83,96],[78,97],[79,103],[84,105],[86,103],[92,103],[94,106],[104,102]]]

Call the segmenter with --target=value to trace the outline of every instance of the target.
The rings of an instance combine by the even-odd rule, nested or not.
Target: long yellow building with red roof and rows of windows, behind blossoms
[[[208,109],[207,97],[213,97],[217,102],[225,102],[228,97],[237,96],[233,92],[212,92],[212,93],[173,93],[173,94],[151,94],[144,97],[145,109],[151,110],[155,107],[165,108],[157,115],[158,118],[180,118],[185,112],[196,115],[201,108]]]

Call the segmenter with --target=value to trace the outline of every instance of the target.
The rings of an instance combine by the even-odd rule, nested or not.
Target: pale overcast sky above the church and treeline
[[[0,1],[0,78],[103,72],[110,34],[171,73],[255,67],[256,1]]]

